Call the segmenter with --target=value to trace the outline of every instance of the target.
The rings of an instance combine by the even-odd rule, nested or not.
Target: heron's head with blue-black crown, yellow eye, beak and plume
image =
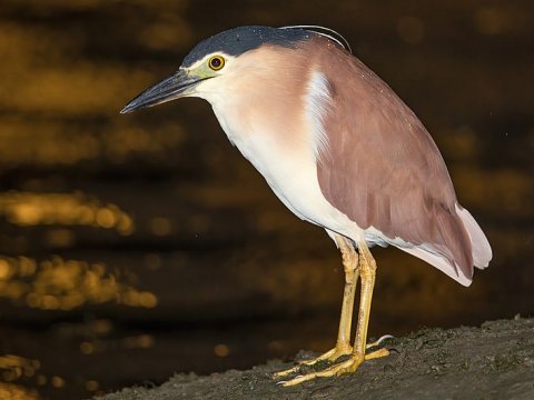
[[[253,74],[258,77],[258,84],[269,84],[261,82],[260,74],[255,72],[266,69],[283,71],[290,60],[285,66],[280,62],[283,58],[274,57],[277,51],[298,50],[300,43],[317,36],[327,37],[350,50],[342,36],[322,27],[239,27],[224,31],[199,42],[186,56],[178,71],[140,93],[120,112],[131,112],[182,97],[199,97],[208,101],[225,98],[228,90],[238,87],[244,77]]]

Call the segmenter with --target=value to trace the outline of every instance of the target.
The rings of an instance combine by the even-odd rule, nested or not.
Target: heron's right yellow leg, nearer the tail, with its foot
[[[380,349],[369,354],[365,353],[367,328],[369,324],[370,314],[370,301],[373,299],[373,288],[375,286],[376,262],[365,242],[358,243],[358,250],[362,290],[358,311],[358,326],[356,328],[356,339],[350,357],[347,360],[334,364],[323,371],[298,376],[289,381],[281,382],[281,384],[293,386],[315,378],[333,377],[342,373],[355,372],[359,364],[364,362],[364,360],[387,356],[386,349]]]

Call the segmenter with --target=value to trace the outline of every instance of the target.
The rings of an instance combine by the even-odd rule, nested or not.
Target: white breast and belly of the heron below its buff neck
[[[297,217],[355,240],[363,238],[362,230],[344,213],[335,209],[323,196],[317,180],[316,157],[327,148],[322,129],[319,101],[327,101],[325,82],[310,81],[301,131],[269,131],[269,123],[255,123],[257,119],[244,113],[246,108],[225,101],[210,101],[214,112],[228,136],[254,167],[264,176],[269,187]],[[320,91],[317,91],[320,89]],[[250,104],[247,104],[250,107]],[[304,126],[303,126],[304,124]],[[288,127],[298,124],[287,123]],[[286,140],[298,138],[300,140]]]

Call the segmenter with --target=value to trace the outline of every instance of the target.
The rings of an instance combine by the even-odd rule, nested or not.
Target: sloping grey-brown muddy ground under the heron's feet
[[[294,388],[273,380],[274,371],[290,367],[276,360],[209,377],[177,374],[157,388],[95,399],[534,399],[534,319],[424,329],[386,347],[389,357],[367,361],[355,374]]]

